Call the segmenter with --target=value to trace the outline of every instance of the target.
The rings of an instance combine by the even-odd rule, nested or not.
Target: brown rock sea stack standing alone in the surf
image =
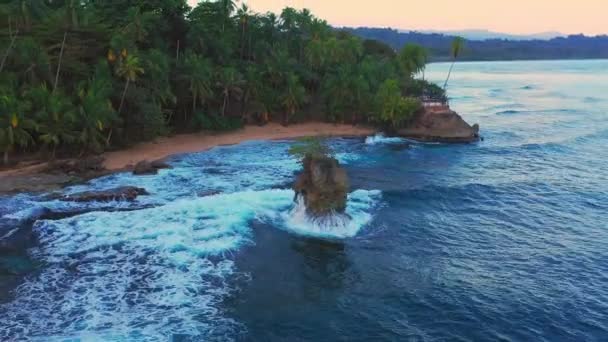
[[[294,184],[296,196],[302,196],[307,213],[324,216],[343,213],[348,195],[348,176],[331,157],[305,157],[304,171]]]

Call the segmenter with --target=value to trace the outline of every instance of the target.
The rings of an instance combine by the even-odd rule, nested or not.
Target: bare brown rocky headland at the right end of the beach
[[[469,125],[449,107],[427,108],[397,133],[421,141],[466,143],[479,140],[479,125]]]

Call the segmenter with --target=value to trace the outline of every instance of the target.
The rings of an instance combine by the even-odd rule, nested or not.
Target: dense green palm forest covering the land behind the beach
[[[404,125],[428,59],[309,11],[234,1],[0,0],[0,151],[99,153],[170,132],[325,120]]]

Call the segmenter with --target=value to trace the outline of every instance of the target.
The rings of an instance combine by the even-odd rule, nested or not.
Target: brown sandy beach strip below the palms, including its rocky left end
[[[288,127],[278,123],[269,123],[265,126],[245,126],[237,131],[225,133],[177,134],[102,154],[105,170],[96,176],[128,171],[135,164],[144,160],[163,160],[176,154],[201,152],[217,146],[236,145],[252,140],[295,139],[310,136],[362,137],[374,133],[376,133],[375,129],[366,126],[309,122]],[[77,175],[48,173],[47,168],[47,162],[40,162],[17,165],[0,171],[0,180],[2,180],[0,194],[46,191],[86,180]]]

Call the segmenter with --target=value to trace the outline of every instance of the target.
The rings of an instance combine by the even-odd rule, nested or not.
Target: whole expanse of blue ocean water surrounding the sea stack
[[[135,203],[0,198],[3,227],[87,211],[33,224],[0,340],[608,340],[608,61],[459,63],[449,93],[484,141],[331,140],[352,183],[333,227],[293,203],[291,141],[65,190]]]

